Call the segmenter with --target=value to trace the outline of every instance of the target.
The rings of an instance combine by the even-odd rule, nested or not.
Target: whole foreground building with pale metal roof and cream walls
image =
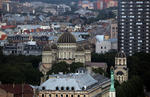
[[[110,79],[79,72],[54,74],[38,88],[39,97],[108,97]]]

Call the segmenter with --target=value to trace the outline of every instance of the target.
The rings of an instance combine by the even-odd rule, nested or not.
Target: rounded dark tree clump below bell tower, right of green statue
[[[116,91],[117,97],[144,97],[143,83],[138,76],[118,85]]]

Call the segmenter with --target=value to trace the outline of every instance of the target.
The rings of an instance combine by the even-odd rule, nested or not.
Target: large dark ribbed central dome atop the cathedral
[[[76,39],[70,32],[64,32],[59,37],[57,43],[76,43]]]

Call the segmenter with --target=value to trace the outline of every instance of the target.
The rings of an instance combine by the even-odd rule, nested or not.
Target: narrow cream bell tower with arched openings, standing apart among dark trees
[[[119,83],[128,80],[127,58],[125,53],[119,52],[115,57],[115,80]]]

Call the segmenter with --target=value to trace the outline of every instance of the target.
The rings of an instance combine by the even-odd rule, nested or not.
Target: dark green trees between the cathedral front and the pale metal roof
[[[76,69],[83,67],[83,63],[73,62],[72,64],[67,64],[66,62],[58,62],[52,65],[52,70],[50,70],[47,74],[58,74],[59,72],[63,73],[74,73]]]

